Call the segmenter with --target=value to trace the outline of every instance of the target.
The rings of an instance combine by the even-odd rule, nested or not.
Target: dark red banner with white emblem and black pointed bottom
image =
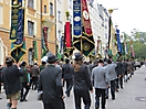
[[[88,56],[93,52],[95,45],[86,0],[82,0],[82,53],[85,56]]]

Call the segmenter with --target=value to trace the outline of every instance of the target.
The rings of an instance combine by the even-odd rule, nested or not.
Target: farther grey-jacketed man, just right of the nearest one
[[[116,64],[112,63],[111,59],[107,59],[107,66],[105,66],[105,69],[108,74],[108,79],[111,80],[111,95],[112,100],[115,99],[115,79],[117,78],[117,74],[115,72]],[[106,99],[108,98],[108,88],[106,89]]]

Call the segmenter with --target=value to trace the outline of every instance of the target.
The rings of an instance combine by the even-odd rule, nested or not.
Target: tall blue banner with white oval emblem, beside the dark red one
[[[81,51],[82,37],[81,0],[73,0],[73,45]]]

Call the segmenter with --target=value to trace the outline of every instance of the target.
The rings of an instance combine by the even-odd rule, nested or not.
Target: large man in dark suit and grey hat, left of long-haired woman
[[[58,58],[48,54],[49,65],[41,72],[38,91],[43,91],[44,109],[65,109],[62,89],[62,70],[55,67]]]

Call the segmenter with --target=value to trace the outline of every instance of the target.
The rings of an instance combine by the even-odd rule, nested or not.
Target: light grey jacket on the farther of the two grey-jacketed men
[[[107,72],[107,74],[108,74],[108,79],[109,79],[109,80],[114,80],[114,79],[117,78],[117,74],[116,74],[116,72],[115,72],[115,67],[116,67],[116,64],[115,64],[115,63],[107,64],[107,65],[105,66],[105,69],[106,69],[106,72]]]

